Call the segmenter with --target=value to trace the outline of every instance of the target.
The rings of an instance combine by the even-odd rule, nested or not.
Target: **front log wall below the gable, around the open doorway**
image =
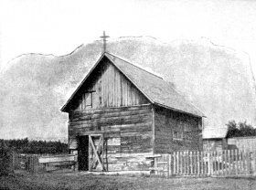
[[[108,171],[142,170],[149,163],[141,154],[153,153],[152,124],[149,104],[73,111],[69,113],[69,149],[78,149],[79,136],[103,133]]]

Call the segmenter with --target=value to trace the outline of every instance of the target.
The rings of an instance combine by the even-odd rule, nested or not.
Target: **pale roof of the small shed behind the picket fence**
[[[227,134],[227,128],[205,128],[203,130],[203,139],[224,139]]]

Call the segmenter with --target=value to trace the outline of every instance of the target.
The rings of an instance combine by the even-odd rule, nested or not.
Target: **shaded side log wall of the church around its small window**
[[[155,108],[155,153],[172,153],[174,151],[197,151],[202,149],[199,133],[201,132],[197,117]],[[182,139],[174,139],[173,132],[181,131]]]

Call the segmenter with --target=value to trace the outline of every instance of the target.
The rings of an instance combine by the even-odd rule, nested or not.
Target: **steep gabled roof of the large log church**
[[[150,73],[144,69],[141,69],[132,63],[124,60],[123,58],[118,58],[110,53],[105,52],[101,58],[97,61],[94,67],[100,64],[102,58],[108,58],[112,64],[119,69],[123,75],[129,79],[133,85],[140,90],[144,96],[150,100],[152,103],[165,107],[170,110],[186,112],[198,117],[205,117],[204,114],[199,111],[195,106],[188,103],[187,100],[181,96],[174,88],[169,84],[169,82]],[[73,93],[67,103],[62,107],[61,111],[66,111],[70,100],[74,97],[76,92],[80,89],[81,85],[86,81],[88,76],[90,76],[91,71],[82,80],[80,86]]]

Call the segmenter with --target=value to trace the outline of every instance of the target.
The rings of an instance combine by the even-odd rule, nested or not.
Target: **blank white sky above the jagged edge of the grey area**
[[[0,0],[0,68],[25,53],[70,53],[99,39],[152,36],[170,42],[208,37],[245,51],[256,73],[256,1]]]

